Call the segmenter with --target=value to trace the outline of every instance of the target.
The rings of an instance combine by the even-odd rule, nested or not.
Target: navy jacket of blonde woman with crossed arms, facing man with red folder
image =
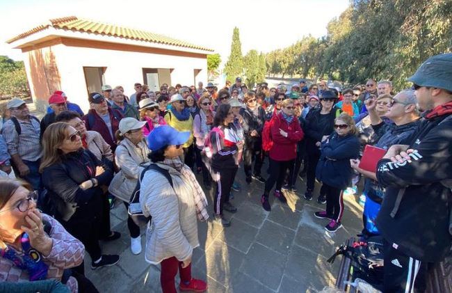
[[[356,159],[359,153],[360,141],[357,136],[339,136],[334,132],[321,144],[321,156],[316,168],[317,180],[331,187],[345,189],[353,177],[350,159]]]

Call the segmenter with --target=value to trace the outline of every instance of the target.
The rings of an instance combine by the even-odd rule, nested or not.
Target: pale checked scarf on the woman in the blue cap
[[[180,158],[167,158],[163,160],[162,163],[181,173],[181,175],[186,179],[184,182],[188,182],[190,184],[191,190],[193,190],[192,195],[195,202],[197,219],[200,221],[207,221],[207,219],[209,219],[209,213],[207,212],[207,198],[204,191],[202,191],[200,184],[197,182],[193,171],[191,171],[191,168],[186,166]]]

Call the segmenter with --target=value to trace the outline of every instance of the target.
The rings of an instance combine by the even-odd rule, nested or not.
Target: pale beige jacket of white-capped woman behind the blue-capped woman
[[[111,180],[108,191],[120,200],[129,203],[132,192],[138,182],[141,171],[150,164],[147,155],[150,153],[145,141],[138,146],[124,138],[115,150],[115,162],[121,169]]]

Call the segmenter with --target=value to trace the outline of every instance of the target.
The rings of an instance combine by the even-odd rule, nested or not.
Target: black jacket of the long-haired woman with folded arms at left
[[[96,167],[102,166],[105,171],[95,176]],[[83,191],[79,184],[96,178],[97,187]],[[71,152],[63,157],[60,163],[53,164],[42,171],[42,183],[49,192],[49,196],[57,208],[57,218],[63,218],[59,207],[64,203],[76,203],[79,207],[72,217],[81,216],[83,219],[93,219],[102,209],[101,185],[110,184],[113,171],[102,161],[99,161],[89,150]],[[71,218],[72,219],[72,218]]]

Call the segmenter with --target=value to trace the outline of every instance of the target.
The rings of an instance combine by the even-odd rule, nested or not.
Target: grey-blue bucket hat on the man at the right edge
[[[428,58],[407,81],[452,91],[452,53]]]

